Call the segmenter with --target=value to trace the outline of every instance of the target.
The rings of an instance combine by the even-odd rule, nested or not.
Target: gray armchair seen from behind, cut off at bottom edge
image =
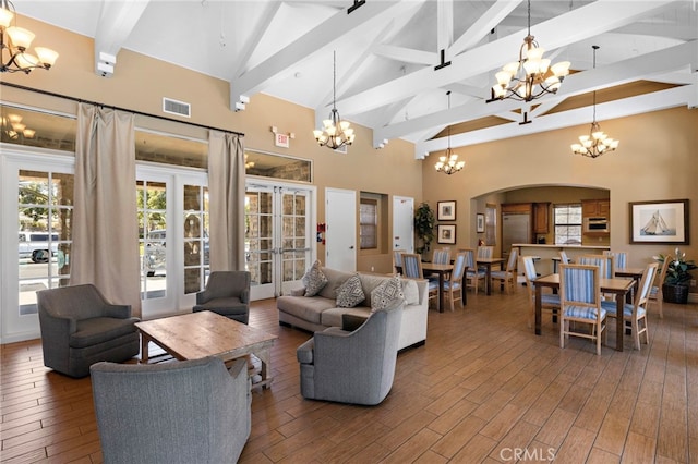
[[[217,357],[97,363],[92,388],[105,463],[234,463],[250,437],[248,363]]]

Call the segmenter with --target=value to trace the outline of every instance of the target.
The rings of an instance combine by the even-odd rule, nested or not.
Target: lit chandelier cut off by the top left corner
[[[27,53],[34,33],[31,30],[11,26],[15,16],[14,5],[10,0],[0,0],[0,72],[16,73],[22,71],[28,74],[35,68],[50,69],[58,53],[45,47],[35,47],[34,54]],[[16,23],[16,20],[14,21]],[[5,59],[5,50],[8,58]]]

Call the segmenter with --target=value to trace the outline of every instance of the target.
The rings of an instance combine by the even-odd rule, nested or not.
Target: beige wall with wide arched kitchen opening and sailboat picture
[[[478,241],[476,212],[484,212],[485,203],[506,203],[512,198],[508,191],[561,185],[609,190],[610,245],[614,251],[627,252],[630,266],[649,262],[659,253],[673,252],[674,246],[631,245],[628,203],[688,198],[693,240],[681,248],[698,259],[698,110],[655,111],[601,121],[601,126],[621,145],[615,152],[597,159],[570,155],[569,145],[588,126],[459,148],[457,152],[466,160],[466,168],[449,176],[434,172],[434,154],[422,167],[424,198],[434,207],[437,200],[456,199],[457,246],[472,246]],[[550,200],[554,203],[556,198]]]

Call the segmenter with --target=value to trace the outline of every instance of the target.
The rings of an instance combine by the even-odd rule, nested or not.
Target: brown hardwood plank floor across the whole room
[[[626,337],[597,356],[583,340],[561,350],[549,317],[533,335],[525,298],[519,286],[430,310],[426,344],[399,354],[374,407],[303,400],[296,347],[310,334],[279,327],[274,300],[253,303],[250,325],[279,339],[241,462],[698,463],[697,305],[651,312],[640,352]],[[0,461],[101,462],[89,378],[45,368],[38,340],[3,345],[1,362]]]

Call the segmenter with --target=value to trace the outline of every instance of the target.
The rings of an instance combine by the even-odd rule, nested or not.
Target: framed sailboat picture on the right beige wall
[[[688,199],[629,203],[630,243],[689,244]]]

